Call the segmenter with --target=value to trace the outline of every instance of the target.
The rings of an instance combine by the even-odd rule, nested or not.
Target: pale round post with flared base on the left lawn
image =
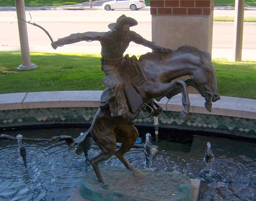
[[[31,60],[30,60],[30,52],[29,52],[28,37],[27,37],[27,24],[25,22],[26,21],[25,2],[24,0],[15,0],[15,5],[16,5],[16,12],[18,17],[18,27],[19,27],[19,35],[20,35],[20,51],[21,51],[21,59],[22,59],[22,64],[20,64],[20,66],[17,68],[20,70],[34,69],[37,66],[31,63]]]

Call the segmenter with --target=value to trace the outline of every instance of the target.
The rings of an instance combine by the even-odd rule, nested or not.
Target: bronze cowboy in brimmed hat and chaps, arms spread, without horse
[[[109,106],[112,116],[120,116],[128,113],[129,108],[126,101],[123,84],[121,83],[121,67],[124,67],[126,60],[124,52],[131,41],[136,44],[149,47],[153,50],[165,51],[164,47],[156,45],[154,42],[144,39],[138,33],[130,31],[129,27],[136,26],[138,22],[131,18],[121,15],[116,23],[108,25],[108,32],[85,32],[74,33],[70,36],[52,42],[52,47],[76,43],[82,40],[101,42],[101,69],[106,74],[103,82],[106,88],[101,95],[100,107]]]

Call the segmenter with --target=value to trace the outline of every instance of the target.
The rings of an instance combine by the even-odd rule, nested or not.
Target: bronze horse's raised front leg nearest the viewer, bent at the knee
[[[164,97],[171,98],[174,95],[178,94],[178,92],[182,92],[182,105],[184,106],[184,109],[181,111],[181,116],[184,121],[189,121],[189,94],[187,90],[187,85],[182,80],[176,80],[175,82],[170,82],[166,84],[162,84],[160,87],[157,87],[155,89],[148,88],[146,93],[148,95],[151,95],[152,97]],[[157,98],[155,98],[158,100]]]

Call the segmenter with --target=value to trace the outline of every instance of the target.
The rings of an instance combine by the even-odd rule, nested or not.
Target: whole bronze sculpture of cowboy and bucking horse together
[[[142,176],[124,154],[133,147],[139,135],[133,121],[136,115],[144,109],[148,110],[149,115],[154,116],[162,112],[152,100],[161,100],[164,96],[170,99],[181,92],[184,106],[181,116],[184,121],[188,121],[190,106],[188,86],[195,87],[204,97],[205,107],[209,111],[211,111],[211,101],[220,99],[216,71],[211,64],[209,53],[191,46],[182,46],[176,50],[159,47],[137,33],[129,31],[129,27],[136,24],[134,19],[122,15],[115,27],[111,27],[110,32],[76,33],[52,43],[56,48],[81,40],[101,42],[101,64],[106,73],[103,81],[107,88],[101,96],[101,104],[91,127],[76,139],[70,136],[56,136],[52,141],[66,140],[69,147],[80,144],[76,153],[84,152],[87,156],[92,138],[100,147],[101,153],[89,161],[104,189],[113,187],[101,174],[99,163],[108,160],[114,154],[126,168],[133,171],[134,176]],[[130,41],[156,51],[142,55],[139,60],[135,56],[128,55],[123,58],[122,54]],[[185,81],[173,81],[184,75],[192,77]],[[117,141],[122,143],[118,150],[116,150]]]

